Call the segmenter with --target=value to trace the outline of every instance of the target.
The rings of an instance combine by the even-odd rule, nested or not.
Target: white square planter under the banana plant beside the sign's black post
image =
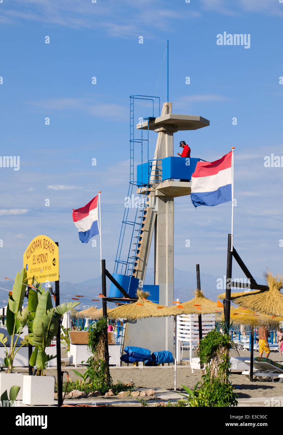
[[[54,383],[53,376],[24,376],[23,404],[53,405]]]

